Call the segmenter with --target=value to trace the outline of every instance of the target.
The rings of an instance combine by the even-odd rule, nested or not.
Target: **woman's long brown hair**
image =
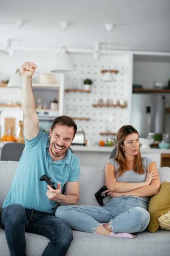
[[[117,137],[117,154],[116,154],[115,160],[119,164],[119,169],[117,170],[118,177],[120,177],[122,174],[124,174],[129,168],[128,160],[125,157],[125,153],[123,151],[122,146],[124,145],[124,141],[125,141],[125,138],[127,137],[127,135],[132,134],[132,133],[138,134],[138,132],[136,131],[135,128],[133,128],[133,126],[124,125],[119,129],[119,131],[117,132],[117,135],[116,135],[116,137]],[[138,136],[139,136],[139,134],[138,134]],[[140,150],[139,150],[138,154],[135,156],[133,170],[134,170],[134,172],[137,172],[139,174],[144,174]]]

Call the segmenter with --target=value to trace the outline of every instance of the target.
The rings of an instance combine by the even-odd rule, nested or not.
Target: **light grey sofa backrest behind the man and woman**
[[[3,201],[5,200],[11,186],[14,172],[18,162],[0,161],[0,188],[3,193],[0,193],[0,212],[2,211]],[[161,183],[166,180],[170,182],[170,168],[162,167],[158,169]],[[2,178],[4,177],[4,179]],[[103,168],[92,168],[81,166],[79,176],[79,201],[78,205],[94,205],[99,206],[95,198],[95,193],[105,185],[105,170]],[[106,204],[110,200],[106,196],[103,200]]]

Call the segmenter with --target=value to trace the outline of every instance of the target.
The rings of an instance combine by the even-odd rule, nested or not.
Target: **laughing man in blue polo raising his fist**
[[[3,204],[1,227],[6,231],[11,256],[26,255],[25,231],[50,239],[43,256],[64,256],[72,241],[72,230],[54,213],[57,203],[77,204],[79,198],[79,160],[69,149],[77,125],[70,117],[59,116],[50,128],[50,138],[39,128],[31,79],[36,69],[33,62],[22,65],[26,145]],[[44,174],[51,177],[57,189],[40,181]]]

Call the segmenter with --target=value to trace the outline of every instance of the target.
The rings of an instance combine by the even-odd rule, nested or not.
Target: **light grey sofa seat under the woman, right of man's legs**
[[[102,236],[73,231],[66,256],[169,256],[170,232],[137,233],[135,239]]]

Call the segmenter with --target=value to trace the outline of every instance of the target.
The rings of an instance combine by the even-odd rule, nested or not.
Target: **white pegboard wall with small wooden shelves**
[[[130,56],[112,55],[100,56],[94,60],[92,55],[72,54],[71,55],[77,72],[65,76],[66,88],[84,88],[83,80],[92,79],[91,93],[65,92],[64,114],[71,117],[89,117],[90,121],[75,120],[78,130],[85,131],[85,139],[90,141],[106,140],[111,136],[101,136],[100,132],[106,131],[105,116],[112,118],[111,132],[117,132],[122,125],[130,124],[130,100],[132,94]],[[113,73],[116,81],[103,82],[102,69],[119,70],[118,74]],[[127,101],[127,108],[93,107],[95,99],[123,99]]]

